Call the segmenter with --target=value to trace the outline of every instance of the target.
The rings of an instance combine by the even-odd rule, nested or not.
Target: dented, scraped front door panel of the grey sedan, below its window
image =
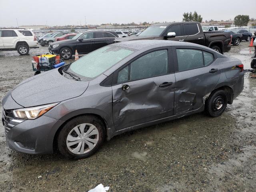
[[[169,84],[163,86],[163,83]],[[127,89],[123,90],[123,86]],[[116,130],[172,116],[174,86],[174,74],[112,86]]]

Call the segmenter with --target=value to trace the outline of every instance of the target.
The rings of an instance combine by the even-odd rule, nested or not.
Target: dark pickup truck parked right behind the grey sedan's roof
[[[138,36],[117,38],[114,42],[144,39],[186,41],[210,47],[217,52],[228,52],[231,48],[231,33],[224,31],[203,32],[199,22],[173,22],[154,24]]]

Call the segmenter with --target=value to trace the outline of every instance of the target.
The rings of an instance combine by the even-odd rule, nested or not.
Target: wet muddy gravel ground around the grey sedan
[[[248,45],[241,42],[226,53],[242,60],[245,69],[254,52]],[[0,101],[34,75],[32,55],[47,51],[0,52]],[[194,114],[128,132],[83,160],[10,150],[1,124],[0,191],[86,192],[100,183],[110,192],[256,191],[256,80],[247,73],[244,83],[220,117]]]

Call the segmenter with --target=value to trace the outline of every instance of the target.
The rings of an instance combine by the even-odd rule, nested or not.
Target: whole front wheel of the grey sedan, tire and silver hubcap
[[[58,150],[70,159],[87,158],[94,154],[105,138],[103,122],[92,115],[68,121],[58,135]]]

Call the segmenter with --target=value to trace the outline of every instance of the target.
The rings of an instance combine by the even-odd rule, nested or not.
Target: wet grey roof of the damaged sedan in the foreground
[[[150,50],[151,48],[164,47],[164,46],[193,46],[193,47],[212,50],[208,47],[205,47],[199,44],[194,44],[190,42],[179,42],[179,41],[173,41],[173,40],[134,40],[134,41],[118,42],[111,45],[130,48],[134,50],[142,50],[145,48],[148,48],[148,50]]]

